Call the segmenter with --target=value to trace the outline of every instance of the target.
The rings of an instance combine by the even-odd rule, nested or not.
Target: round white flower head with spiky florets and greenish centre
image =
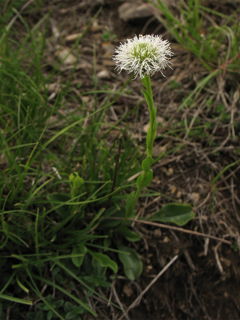
[[[139,35],[138,38],[135,35],[133,39],[127,39],[127,42],[117,47],[113,60],[116,60],[119,73],[123,69],[129,70],[128,73],[134,72],[135,78],[140,75],[143,79],[157,71],[164,76],[162,70],[166,66],[170,67],[171,62],[168,60],[172,54],[169,42],[162,40],[162,36]]]

